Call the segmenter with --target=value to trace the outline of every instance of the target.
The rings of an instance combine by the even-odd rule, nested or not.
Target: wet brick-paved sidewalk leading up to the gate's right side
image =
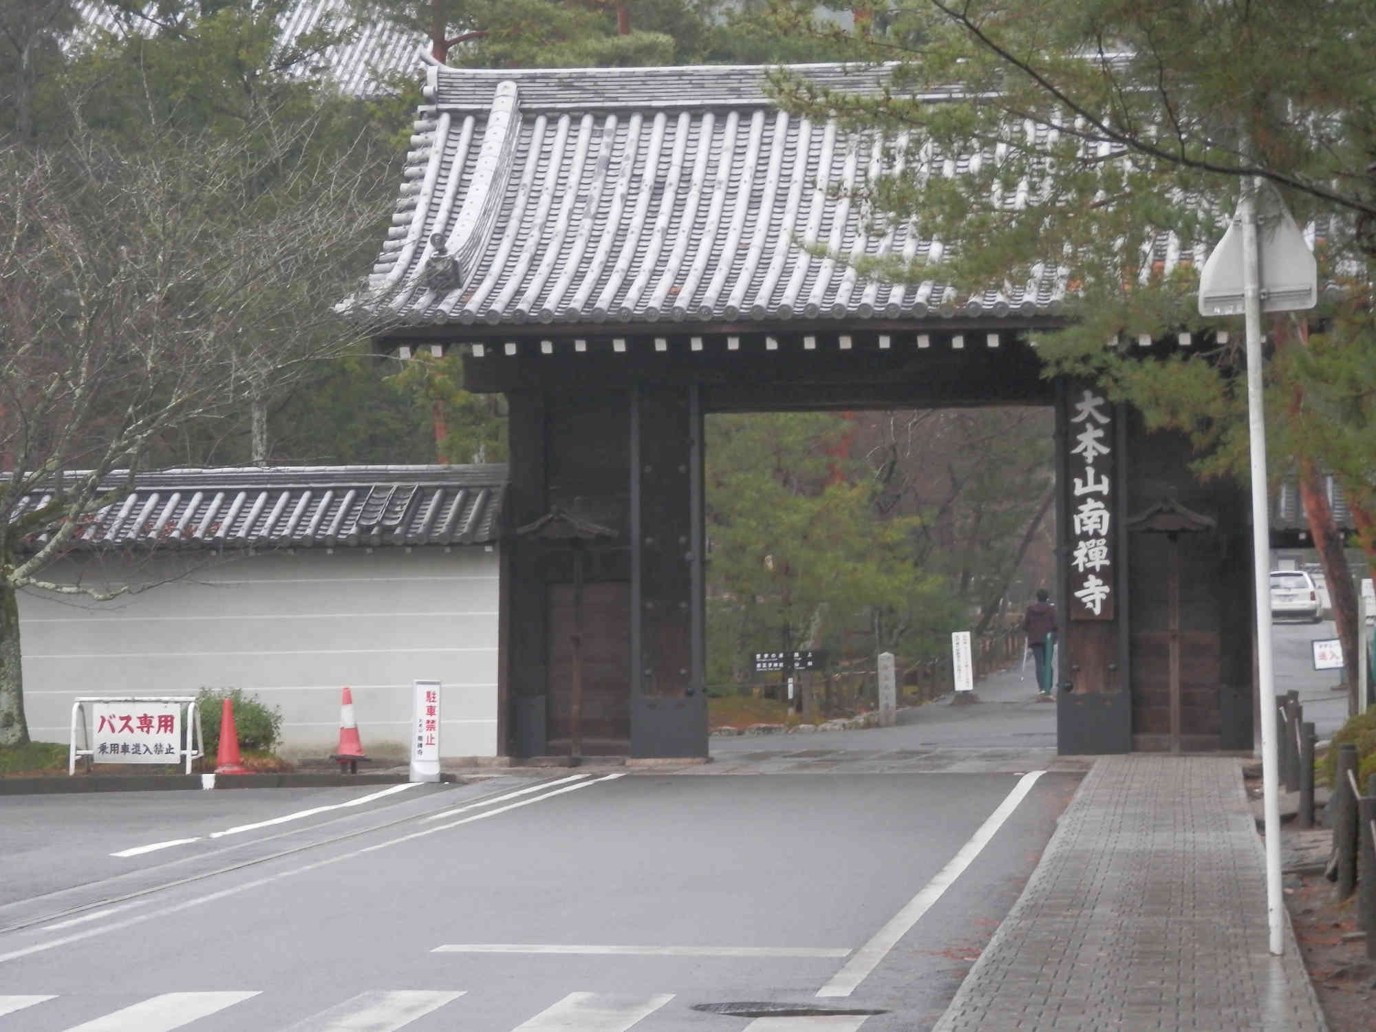
[[[1322,1032],[1241,761],[1101,757],[934,1032]]]

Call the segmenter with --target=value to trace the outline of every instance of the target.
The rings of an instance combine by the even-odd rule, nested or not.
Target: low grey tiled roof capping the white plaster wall
[[[168,469],[83,520],[73,546],[480,545],[499,537],[505,484],[505,465]],[[52,498],[26,495],[15,517]]]

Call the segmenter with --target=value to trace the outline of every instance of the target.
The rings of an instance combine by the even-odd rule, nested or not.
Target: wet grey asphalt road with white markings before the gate
[[[7,798],[0,1031],[817,1028],[761,1002],[922,1029],[1076,784],[579,771],[329,810],[376,790]]]

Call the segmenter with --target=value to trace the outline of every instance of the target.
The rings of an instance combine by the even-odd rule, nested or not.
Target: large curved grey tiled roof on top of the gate
[[[889,74],[794,70],[864,92]],[[819,257],[934,260],[943,244],[872,224],[849,189],[881,169],[879,138],[780,113],[768,72],[431,65],[372,303],[402,326],[1060,311],[1050,267],[969,296],[936,279],[861,279]]]

